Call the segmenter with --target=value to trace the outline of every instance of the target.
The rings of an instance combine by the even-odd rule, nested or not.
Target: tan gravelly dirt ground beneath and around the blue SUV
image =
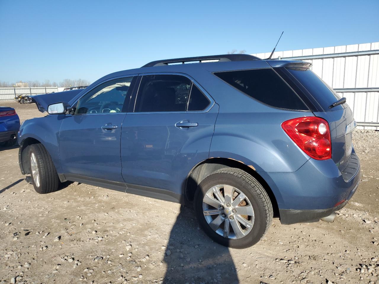
[[[362,181],[334,223],[274,219],[244,250],[213,243],[179,204],[77,183],[39,195],[18,148],[0,148],[0,283],[379,284],[379,131],[355,131],[354,145]]]

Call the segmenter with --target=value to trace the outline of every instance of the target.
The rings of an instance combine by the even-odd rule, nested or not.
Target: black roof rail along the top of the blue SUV
[[[222,54],[222,55],[207,55],[207,56],[196,56],[196,57],[184,57],[184,58],[175,58],[175,59],[166,59],[166,60],[157,60],[145,64],[142,67],[153,67],[153,66],[167,66],[170,63],[180,63],[184,64],[185,62],[191,61],[202,61],[206,60],[218,60],[222,61],[250,61],[250,60],[261,60],[256,56],[249,54]]]

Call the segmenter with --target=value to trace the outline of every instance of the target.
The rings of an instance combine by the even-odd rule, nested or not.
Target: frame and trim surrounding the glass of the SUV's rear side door
[[[188,96],[188,100],[187,100],[187,105],[186,105],[186,110],[185,111],[135,112],[137,95],[138,95],[138,91],[139,91],[139,86],[141,84],[141,79],[142,79],[143,76],[147,76],[147,75],[180,75],[180,76],[185,76],[189,80],[191,80],[191,89],[190,89],[189,95],[191,95],[192,85],[194,84],[205,95],[205,97],[208,98],[208,100],[210,101],[210,103],[207,106],[207,108],[205,108],[202,111],[187,111],[187,109],[188,109],[188,102],[189,102],[189,96]],[[187,75],[185,73],[180,73],[180,72],[148,72],[148,73],[139,73],[138,74],[138,80],[137,80],[136,86],[137,85],[138,85],[138,87],[135,87],[134,90],[133,90],[133,95],[132,95],[132,98],[131,98],[130,103],[129,103],[130,107],[129,107],[128,113],[132,113],[132,114],[144,114],[144,113],[186,113],[186,112],[193,113],[193,112],[208,112],[213,107],[213,105],[215,104],[215,100],[213,100],[213,98],[210,96],[210,94],[208,94],[208,92],[205,91],[205,89],[202,86],[200,86],[200,84],[197,83],[191,76],[189,76],[189,75]],[[131,106],[133,106],[133,108]]]

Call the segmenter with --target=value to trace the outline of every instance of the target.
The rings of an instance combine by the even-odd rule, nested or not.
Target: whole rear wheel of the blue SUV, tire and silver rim
[[[197,187],[194,210],[205,233],[231,248],[255,245],[273,220],[273,206],[263,186],[236,168],[208,175]]]

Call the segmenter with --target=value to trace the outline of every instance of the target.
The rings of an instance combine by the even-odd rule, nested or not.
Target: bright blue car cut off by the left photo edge
[[[16,144],[17,132],[20,129],[20,119],[14,108],[0,106],[0,145]]]

